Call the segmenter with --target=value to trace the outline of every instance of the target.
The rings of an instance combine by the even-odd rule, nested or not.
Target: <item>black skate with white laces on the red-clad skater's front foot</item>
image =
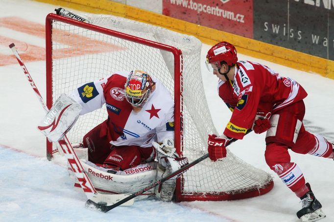
[[[306,183],[306,185],[309,187],[310,191],[300,198],[303,208],[297,212],[297,217],[301,219],[302,222],[318,221],[326,217],[326,215],[321,210],[321,203],[314,197],[310,184]]]

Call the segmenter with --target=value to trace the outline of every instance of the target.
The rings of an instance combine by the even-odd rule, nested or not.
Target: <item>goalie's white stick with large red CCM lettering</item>
[[[9,45],[9,48],[11,48],[11,50],[13,51],[13,54],[15,55],[17,61],[19,62],[20,66],[23,69],[23,72],[26,76],[26,78],[28,79],[32,89],[34,90],[38,100],[41,102],[43,108],[45,109],[46,112],[48,112],[48,107],[45,104],[41,93],[39,92],[39,90],[37,89],[37,86],[35,84],[35,82],[32,80],[28,70],[26,69],[14,43],[11,43]],[[67,160],[69,161],[69,164],[72,168],[72,171],[74,172],[76,178],[78,179],[81,188],[83,189],[83,191],[85,192],[88,200],[92,200],[95,202],[104,202],[106,204],[113,204],[113,203],[118,203],[119,200],[121,200],[122,198],[125,198],[127,196],[129,196],[130,194],[101,194],[101,193],[97,193],[97,191],[95,190],[91,180],[89,179],[88,175],[86,174],[86,172],[84,171],[78,157],[76,156],[73,147],[71,145],[71,142],[68,140],[67,136],[65,135],[63,137],[63,139],[61,139],[60,141],[58,141],[61,149],[63,150],[65,157],[67,158]],[[132,202],[129,202],[127,204],[124,205],[132,205]]]

